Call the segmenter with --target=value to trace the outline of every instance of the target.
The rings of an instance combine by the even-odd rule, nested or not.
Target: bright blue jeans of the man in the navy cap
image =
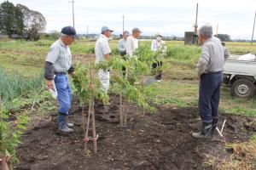
[[[55,75],[55,87],[60,105],[59,112],[67,116],[72,105],[72,90],[68,82],[67,74],[57,73]]]

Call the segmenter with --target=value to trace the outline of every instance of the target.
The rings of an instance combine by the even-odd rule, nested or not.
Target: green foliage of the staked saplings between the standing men
[[[125,57],[111,55],[110,59],[97,63],[93,71],[96,73],[96,70],[107,71],[113,69],[111,71],[113,73],[111,75],[113,92],[123,94],[131,102],[135,102],[144,109],[152,111],[144,97],[143,88],[137,87],[135,82],[141,81],[143,75],[150,74],[153,61],[151,49],[148,46],[143,46],[138,48],[136,55],[132,57],[128,55]],[[124,67],[126,69],[125,77],[123,76]],[[76,76],[73,79],[73,83],[75,88],[77,88],[81,105],[88,104],[91,97],[102,99],[105,102],[109,99],[107,92],[102,88],[102,84],[98,80],[98,76],[95,74],[93,77],[94,87],[90,88],[89,65],[79,63],[76,66]]]

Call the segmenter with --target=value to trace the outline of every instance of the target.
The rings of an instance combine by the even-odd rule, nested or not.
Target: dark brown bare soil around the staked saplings
[[[110,112],[118,113],[113,102]],[[97,114],[101,109],[96,109]],[[136,116],[135,107],[129,110],[127,127],[96,120],[98,153],[84,154],[84,135],[81,111],[73,111],[69,120],[75,122],[75,133],[57,133],[51,116],[35,119],[18,148],[20,164],[15,170],[189,170],[212,169],[205,167],[206,154],[227,154],[224,140],[193,139],[191,132],[200,127],[198,109],[158,108],[156,113]],[[221,115],[227,119],[225,142],[249,139],[245,116]],[[90,144],[92,150],[92,144]]]

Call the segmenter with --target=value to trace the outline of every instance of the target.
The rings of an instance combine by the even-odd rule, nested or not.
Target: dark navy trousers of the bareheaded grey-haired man
[[[222,81],[222,71],[201,75],[199,110],[203,122],[212,122],[212,118],[218,118],[218,104]]]

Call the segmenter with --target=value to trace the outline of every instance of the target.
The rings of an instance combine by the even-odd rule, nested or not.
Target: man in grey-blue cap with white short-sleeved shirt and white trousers
[[[105,59],[109,59],[111,50],[108,45],[109,38],[111,37],[111,33],[113,30],[110,30],[108,26],[102,26],[102,34],[96,41],[95,54],[96,54],[96,64]],[[98,76],[100,82],[102,82],[102,88],[104,88],[108,92],[109,88],[109,70],[98,71]]]

